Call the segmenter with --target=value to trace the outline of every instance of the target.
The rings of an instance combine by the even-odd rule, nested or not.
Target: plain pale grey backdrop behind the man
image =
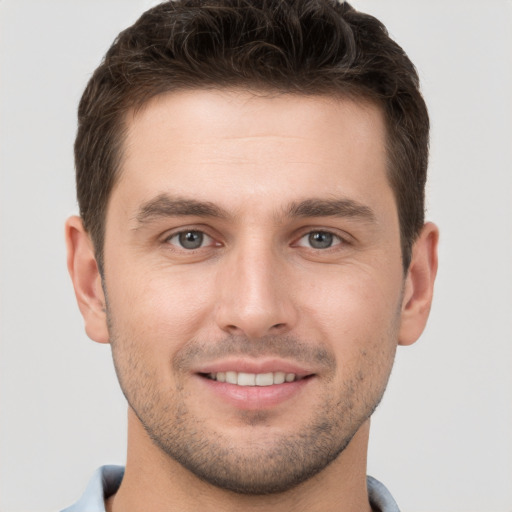
[[[74,502],[123,463],[126,405],[65,265],[76,106],[117,33],[155,2],[0,0],[0,510]],[[400,348],[368,472],[404,511],[512,511],[512,3],[353,0],[417,65],[432,118],[431,320]]]

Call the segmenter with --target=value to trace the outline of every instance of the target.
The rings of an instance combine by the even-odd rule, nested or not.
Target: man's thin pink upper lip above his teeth
[[[294,373],[297,377],[312,375],[313,371],[293,361],[282,359],[223,359],[201,365],[194,373],[209,374],[219,372],[244,372],[244,373]]]

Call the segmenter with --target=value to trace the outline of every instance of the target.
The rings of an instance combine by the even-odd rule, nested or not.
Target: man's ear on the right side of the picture
[[[438,240],[437,227],[427,222],[413,245],[402,300],[399,345],[414,343],[427,323],[437,273]]]

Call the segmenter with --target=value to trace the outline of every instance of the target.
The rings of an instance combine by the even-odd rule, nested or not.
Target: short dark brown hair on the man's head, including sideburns
[[[163,92],[226,87],[364,98],[382,109],[407,269],[424,223],[429,119],[414,65],[384,25],[336,0],[172,0],[119,34],[80,101],[77,195],[100,271],[126,113]]]

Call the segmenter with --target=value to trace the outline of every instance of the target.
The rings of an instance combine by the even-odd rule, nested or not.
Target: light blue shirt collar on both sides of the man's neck
[[[102,466],[91,478],[82,497],[62,512],[105,512],[105,498],[115,494],[124,475],[122,466]],[[368,497],[374,511],[400,512],[393,496],[375,478],[366,477]]]

